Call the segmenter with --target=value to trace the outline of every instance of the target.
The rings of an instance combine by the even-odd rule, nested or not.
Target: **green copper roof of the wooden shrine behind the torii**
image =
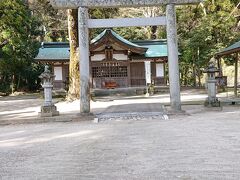
[[[166,40],[146,40],[146,41],[128,41],[115,33],[112,30],[106,29],[100,33],[97,37],[91,40],[91,44],[98,42],[106,33],[111,33],[122,43],[134,48],[145,49],[144,54],[135,54],[133,59],[137,58],[161,58],[167,57],[167,41]],[[70,57],[68,42],[52,42],[42,43],[42,47],[39,49],[39,53],[35,60],[37,61],[67,61]]]

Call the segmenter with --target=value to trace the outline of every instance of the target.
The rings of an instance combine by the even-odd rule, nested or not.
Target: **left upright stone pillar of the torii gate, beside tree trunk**
[[[78,8],[80,113],[90,113],[88,8]]]

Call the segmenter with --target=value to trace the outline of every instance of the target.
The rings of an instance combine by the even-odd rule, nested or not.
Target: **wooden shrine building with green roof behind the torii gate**
[[[43,43],[35,60],[51,64],[54,88],[64,88],[68,79],[68,43]],[[90,77],[92,88],[146,86],[146,63],[154,85],[166,85],[166,40],[128,41],[110,29],[90,43]]]

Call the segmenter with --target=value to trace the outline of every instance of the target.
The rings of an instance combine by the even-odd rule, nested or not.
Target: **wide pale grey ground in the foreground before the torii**
[[[185,110],[198,109],[185,106]],[[0,127],[0,179],[240,179],[240,111]]]

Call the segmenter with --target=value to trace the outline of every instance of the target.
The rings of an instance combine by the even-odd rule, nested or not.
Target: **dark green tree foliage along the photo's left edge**
[[[21,0],[0,1],[0,84],[12,91],[34,89],[38,66],[32,60],[37,53],[39,22]]]

